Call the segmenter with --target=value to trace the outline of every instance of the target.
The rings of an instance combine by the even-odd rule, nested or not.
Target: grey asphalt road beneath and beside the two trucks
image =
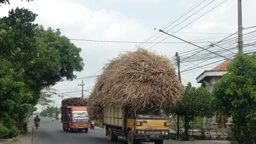
[[[126,144],[124,138],[118,138],[118,141],[108,141],[104,129],[95,127],[94,130],[85,132],[67,132],[62,130],[62,124],[59,120],[52,122],[51,118],[41,118],[40,127],[33,128],[32,144]],[[164,144],[181,144],[179,141],[164,141]]]

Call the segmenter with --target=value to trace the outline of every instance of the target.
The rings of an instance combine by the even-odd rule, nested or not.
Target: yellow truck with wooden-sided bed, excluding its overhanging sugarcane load
[[[104,107],[103,124],[109,141],[124,137],[128,144],[154,142],[163,144],[169,140],[169,121],[163,109],[131,111],[121,106]]]

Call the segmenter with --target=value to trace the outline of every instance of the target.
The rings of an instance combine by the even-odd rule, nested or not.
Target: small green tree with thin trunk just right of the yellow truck
[[[182,98],[176,106],[170,108],[171,113],[180,116],[184,123],[184,136],[189,140],[189,122],[200,116],[211,117],[215,111],[215,100],[213,95],[206,88],[195,88],[191,83],[185,86],[182,92]]]

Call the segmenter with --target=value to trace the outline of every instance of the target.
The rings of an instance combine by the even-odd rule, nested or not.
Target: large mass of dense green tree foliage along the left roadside
[[[0,3],[4,2],[0,0]],[[38,15],[25,8],[0,18],[0,121],[11,118],[10,138],[26,132],[26,118],[38,103],[47,105],[45,90],[83,70],[81,49],[54,31],[35,24]],[[56,92],[52,92],[56,93]],[[12,127],[11,127],[12,126]]]

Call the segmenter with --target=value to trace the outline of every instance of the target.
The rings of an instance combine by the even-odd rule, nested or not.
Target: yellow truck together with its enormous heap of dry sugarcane
[[[138,49],[104,67],[88,99],[90,117],[106,125],[106,136],[129,144],[169,139],[164,108],[180,99],[182,84],[169,58]]]

